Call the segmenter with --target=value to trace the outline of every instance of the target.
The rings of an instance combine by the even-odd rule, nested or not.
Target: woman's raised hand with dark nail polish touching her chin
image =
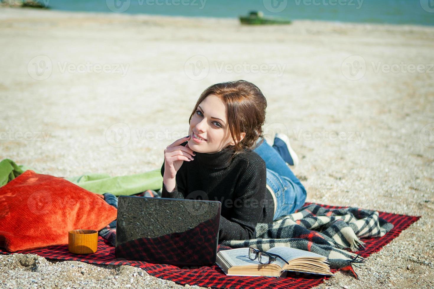
[[[194,159],[195,153],[188,146],[188,143],[185,146],[181,146],[181,143],[189,140],[190,137],[175,140],[174,143],[164,149],[164,179],[174,179],[184,161],[190,162]]]

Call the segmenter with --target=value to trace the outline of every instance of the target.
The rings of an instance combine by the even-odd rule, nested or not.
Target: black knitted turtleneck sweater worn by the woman
[[[181,144],[185,145],[187,142]],[[203,191],[208,200],[220,201],[219,243],[252,239],[256,224],[271,223],[274,216],[264,160],[246,150],[230,161],[233,152],[231,147],[212,154],[195,152],[194,160],[184,161],[178,170],[174,190],[168,192],[164,182],[161,190],[162,198],[186,198],[191,192]]]

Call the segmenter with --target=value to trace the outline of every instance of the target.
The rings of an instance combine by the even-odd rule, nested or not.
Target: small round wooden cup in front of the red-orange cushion
[[[73,254],[92,254],[98,249],[98,231],[72,230],[68,234],[68,250]]]

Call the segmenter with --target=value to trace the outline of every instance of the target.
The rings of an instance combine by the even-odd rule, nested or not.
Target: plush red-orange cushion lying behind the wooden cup
[[[99,231],[117,209],[94,194],[52,175],[27,170],[0,187],[0,247],[31,250],[68,244],[68,231]]]

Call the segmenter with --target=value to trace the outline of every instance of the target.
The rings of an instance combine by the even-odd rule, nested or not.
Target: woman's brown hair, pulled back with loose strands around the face
[[[210,94],[220,97],[227,105],[228,126],[230,134],[235,140],[235,145],[230,146],[235,149],[233,156],[243,153],[245,149],[253,150],[259,138],[261,138],[260,143],[263,143],[262,126],[265,121],[267,101],[255,84],[245,80],[237,80],[211,85],[202,92],[197,100],[188,120],[189,124],[197,106]],[[245,132],[246,135],[240,141],[240,133],[242,132]]]

